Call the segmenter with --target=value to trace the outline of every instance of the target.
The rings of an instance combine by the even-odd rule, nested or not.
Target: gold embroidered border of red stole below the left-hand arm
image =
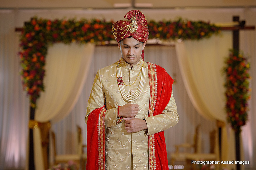
[[[98,139],[99,139],[99,147],[98,147],[98,153],[99,153],[99,167],[98,170],[105,170],[105,123],[104,123],[104,115],[106,112],[106,108],[103,107],[101,109],[101,113],[99,116],[98,121]]]

